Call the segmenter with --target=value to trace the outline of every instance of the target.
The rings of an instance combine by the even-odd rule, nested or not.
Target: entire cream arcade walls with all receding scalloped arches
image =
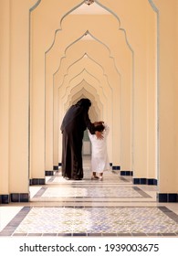
[[[61,162],[59,127],[80,97],[110,125],[113,165],[177,193],[177,1],[96,1],[95,16],[81,3],[0,0],[0,194]]]

